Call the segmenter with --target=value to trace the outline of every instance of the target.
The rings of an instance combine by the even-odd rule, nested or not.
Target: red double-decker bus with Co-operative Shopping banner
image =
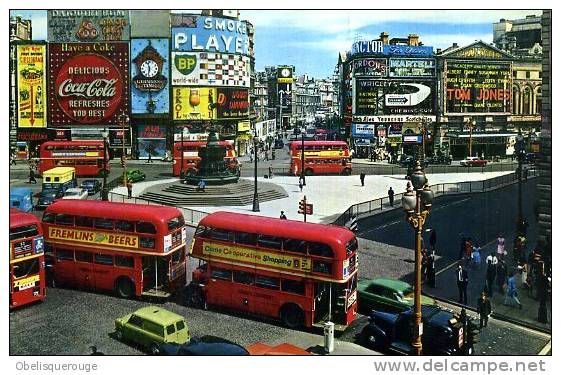
[[[339,330],[357,314],[357,240],[345,227],[216,212],[196,229],[188,302]]]

